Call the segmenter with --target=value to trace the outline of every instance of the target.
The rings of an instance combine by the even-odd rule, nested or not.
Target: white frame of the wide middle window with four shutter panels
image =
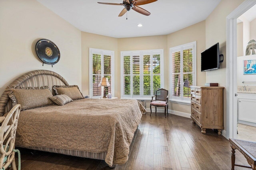
[[[131,76],[131,83],[130,83],[130,95],[124,95],[124,56],[130,56],[130,76]],[[133,83],[132,83],[132,58],[134,55],[140,56],[140,95],[133,95]],[[122,99],[140,99],[140,100],[151,100],[153,94],[153,78],[150,81],[150,95],[144,95],[144,82],[143,82],[143,66],[144,66],[144,55],[150,55],[150,63],[153,63],[153,55],[160,55],[160,88],[164,86],[164,49],[152,49],[152,50],[136,50],[136,51],[121,51],[121,98]],[[150,76],[155,75],[153,73],[153,67],[150,69]]]

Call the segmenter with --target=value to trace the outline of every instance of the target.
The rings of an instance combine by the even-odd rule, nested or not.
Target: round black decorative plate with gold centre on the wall
[[[57,45],[46,39],[39,40],[36,43],[36,54],[46,64],[54,65],[60,60],[60,50]]]

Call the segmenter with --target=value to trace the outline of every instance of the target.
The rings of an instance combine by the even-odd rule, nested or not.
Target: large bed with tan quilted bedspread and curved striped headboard
[[[14,105],[15,101],[10,95],[12,92],[15,92],[19,103],[18,92],[31,87],[39,87],[38,93],[49,87],[49,93],[57,97],[59,94],[56,94],[53,87],[74,86],[70,86],[53,71],[30,71],[6,87],[0,97],[0,116],[8,113]],[[35,90],[32,89],[30,91],[34,94]],[[39,94],[35,101],[42,101],[40,97],[44,95],[41,92]],[[21,99],[26,99],[26,95],[21,96]],[[144,109],[135,99],[102,100],[83,97],[64,105],[51,103],[25,108],[20,112],[15,144],[22,148],[105,160],[108,166],[115,167],[128,160],[129,146]]]

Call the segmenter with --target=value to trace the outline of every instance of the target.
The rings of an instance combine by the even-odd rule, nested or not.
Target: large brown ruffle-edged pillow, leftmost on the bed
[[[44,87],[21,87],[20,89],[10,89],[9,97],[12,99],[13,106],[17,103],[21,105],[21,110],[33,109],[36,107],[53,105],[48,99],[52,97],[48,86]]]

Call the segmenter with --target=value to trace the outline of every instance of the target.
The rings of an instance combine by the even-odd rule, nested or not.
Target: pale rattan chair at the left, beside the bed
[[[3,121],[0,127],[0,170],[5,170],[10,166],[13,170],[17,170],[16,152],[18,152],[18,170],[20,170],[20,151],[14,149],[20,108],[19,104],[15,105],[6,117],[0,117],[0,122]]]

